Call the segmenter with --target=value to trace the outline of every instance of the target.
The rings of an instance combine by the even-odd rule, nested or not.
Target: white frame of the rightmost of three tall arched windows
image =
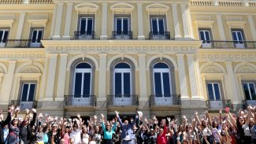
[[[157,63],[158,64],[158,63]],[[155,65],[157,65],[155,64]],[[165,64],[167,65],[167,64]],[[171,72],[170,68],[154,68],[153,66],[153,79],[154,79],[154,73],[161,73],[161,94],[164,97],[165,95],[165,90],[164,90],[164,80],[163,80],[163,73],[168,73],[169,74],[169,86],[170,86],[170,94],[173,94],[173,86],[172,86],[172,78],[171,78]],[[154,81],[154,94],[155,92],[155,81]]]

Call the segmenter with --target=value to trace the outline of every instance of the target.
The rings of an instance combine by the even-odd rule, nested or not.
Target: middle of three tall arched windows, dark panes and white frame
[[[132,68],[121,62],[113,68],[113,94],[130,97],[132,94]]]

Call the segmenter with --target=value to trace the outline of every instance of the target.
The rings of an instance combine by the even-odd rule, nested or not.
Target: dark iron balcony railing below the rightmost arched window
[[[150,95],[150,106],[180,105],[180,94]]]

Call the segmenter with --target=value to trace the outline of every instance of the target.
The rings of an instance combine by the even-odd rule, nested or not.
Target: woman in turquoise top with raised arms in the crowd
[[[104,115],[103,114],[101,115],[102,115],[102,130],[104,132],[104,143],[113,144],[112,135],[116,131],[117,120],[114,122],[113,128],[111,128],[111,124],[109,122],[107,122],[106,125],[104,124],[104,121],[105,121]]]

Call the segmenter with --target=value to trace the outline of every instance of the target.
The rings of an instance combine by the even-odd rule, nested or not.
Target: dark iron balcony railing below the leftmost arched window
[[[65,95],[65,106],[96,106],[95,95]]]

